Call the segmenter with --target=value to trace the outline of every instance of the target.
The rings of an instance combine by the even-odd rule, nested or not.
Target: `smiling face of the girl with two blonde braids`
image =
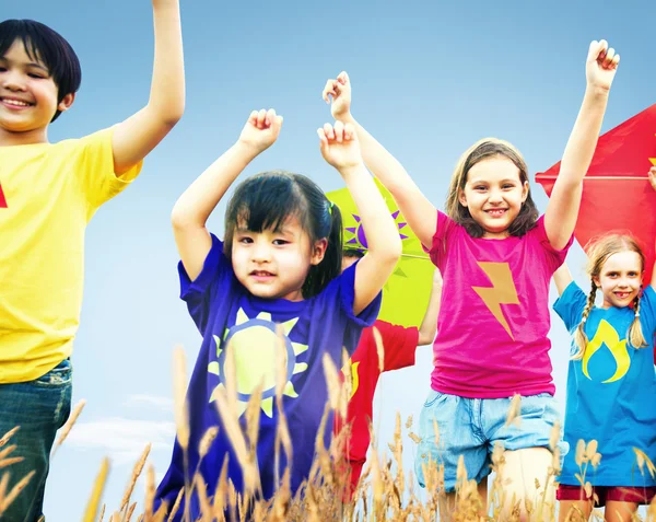
[[[610,255],[599,275],[593,277],[604,294],[602,308],[629,306],[640,292],[642,276],[642,258],[636,252],[624,250]]]

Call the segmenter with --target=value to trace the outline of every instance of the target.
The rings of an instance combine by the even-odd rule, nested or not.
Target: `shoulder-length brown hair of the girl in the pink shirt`
[[[465,230],[472,237],[482,237],[484,234],[483,228],[471,217],[469,209],[460,204],[460,190],[467,185],[467,176],[470,169],[477,163],[494,156],[503,156],[511,160],[519,170],[519,181],[528,182],[528,167],[519,151],[507,141],[496,138],[485,138],[472,144],[461,156],[456,165],[452,177],[448,196],[446,198],[446,213],[456,223],[465,227]],[[538,220],[538,208],[530,195],[530,188],[526,201],[522,205],[522,210],[515,220],[508,227],[511,235],[523,236],[529,230],[536,227]]]

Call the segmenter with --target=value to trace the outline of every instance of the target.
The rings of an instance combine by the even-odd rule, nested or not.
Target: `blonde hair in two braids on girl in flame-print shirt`
[[[588,293],[587,303],[585,309],[583,309],[581,323],[578,323],[578,327],[574,333],[574,343],[577,348],[576,352],[572,356],[572,359],[574,360],[583,359],[585,349],[589,343],[589,339],[585,334],[585,323],[590,314],[590,311],[595,306],[595,298],[597,297],[597,285],[595,283],[595,278],[599,277],[601,274],[601,268],[604,267],[606,260],[611,255],[620,252],[635,252],[640,256],[642,270],[645,269],[645,254],[637,242],[630,235],[608,234],[595,241],[588,248],[588,263],[586,272],[590,277],[591,287],[590,292]],[[631,346],[633,346],[635,349],[648,346],[640,323],[640,299],[641,294],[639,293],[633,300],[633,311],[635,313],[635,317],[633,318],[633,323],[631,323],[629,332],[626,333],[629,343],[631,343]]]

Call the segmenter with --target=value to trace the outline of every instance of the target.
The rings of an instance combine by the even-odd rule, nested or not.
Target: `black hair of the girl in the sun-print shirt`
[[[306,176],[284,171],[256,174],[242,182],[225,211],[223,252],[232,259],[232,245],[238,222],[253,232],[279,230],[295,216],[311,243],[326,237],[324,259],[309,268],[303,283],[303,297],[312,298],[341,272],[342,220],[319,186]]]

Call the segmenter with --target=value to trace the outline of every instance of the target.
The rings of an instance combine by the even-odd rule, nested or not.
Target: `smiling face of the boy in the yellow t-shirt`
[[[55,113],[73,103],[73,94],[58,102],[58,86],[48,68],[33,58],[21,40],[0,57],[0,144],[46,142]]]

